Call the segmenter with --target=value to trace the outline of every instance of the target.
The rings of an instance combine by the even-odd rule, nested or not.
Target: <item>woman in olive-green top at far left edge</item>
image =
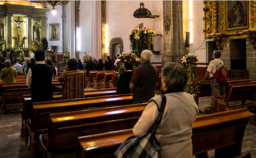
[[[17,72],[16,68],[12,68],[11,61],[9,59],[4,61],[6,68],[1,70],[2,83],[16,83]]]

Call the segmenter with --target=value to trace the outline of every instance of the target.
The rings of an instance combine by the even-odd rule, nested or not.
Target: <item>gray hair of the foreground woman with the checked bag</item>
[[[162,70],[162,80],[171,92],[183,92],[187,78],[185,68],[178,63],[167,62]]]

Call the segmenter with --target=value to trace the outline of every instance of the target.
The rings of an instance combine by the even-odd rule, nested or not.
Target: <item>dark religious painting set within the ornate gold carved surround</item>
[[[227,30],[248,28],[248,1],[226,1]]]

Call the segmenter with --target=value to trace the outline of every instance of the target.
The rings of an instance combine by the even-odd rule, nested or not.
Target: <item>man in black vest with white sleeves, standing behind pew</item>
[[[35,59],[37,64],[28,69],[27,86],[31,88],[32,102],[50,101],[53,97],[52,66],[44,63],[45,52],[38,50],[35,52]]]

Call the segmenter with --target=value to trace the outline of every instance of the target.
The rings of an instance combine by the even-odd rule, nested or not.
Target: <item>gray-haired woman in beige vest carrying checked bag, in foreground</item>
[[[192,158],[192,124],[198,106],[190,94],[183,91],[187,83],[186,70],[178,63],[167,63],[162,70],[162,88],[166,106],[156,138],[162,144],[161,158]],[[147,134],[154,124],[162,98],[150,99],[142,116],[133,128],[136,137]]]

